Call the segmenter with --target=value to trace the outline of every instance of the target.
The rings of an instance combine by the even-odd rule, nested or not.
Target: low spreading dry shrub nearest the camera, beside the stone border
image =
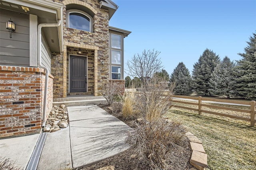
[[[182,146],[188,141],[180,122],[168,122],[162,118],[157,122],[144,120],[135,124],[137,128],[128,134],[128,143],[138,150],[138,168],[181,170],[186,167],[184,164],[189,160],[186,157],[190,155],[174,154],[186,153]]]

